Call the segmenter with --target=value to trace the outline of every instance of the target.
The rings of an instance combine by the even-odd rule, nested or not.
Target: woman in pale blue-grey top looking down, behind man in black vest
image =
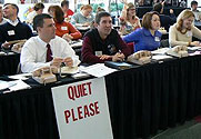
[[[91,12],[92,7],[90,4],[82,6],[80,12],[72,16],[71,23],[76,26],[90,26],[94,19],[94,16]]]

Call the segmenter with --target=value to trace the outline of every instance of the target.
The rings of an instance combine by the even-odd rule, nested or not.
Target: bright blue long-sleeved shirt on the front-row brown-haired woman
[[[140,50],[152,51],[160,47],[161,36],[162,33],[159,31],[155,31],[154,36],[152,36],[150,30],[147,30],[145,28],[140,28],[127,34],[123,38],[123,41],[125,41],[127,43],[133,42],[134,52]]]

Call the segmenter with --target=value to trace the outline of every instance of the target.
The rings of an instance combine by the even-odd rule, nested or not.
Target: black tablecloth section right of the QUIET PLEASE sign
[[[108,76],[114,136],[149,137],[201,113],[201,57],[189,57]]]

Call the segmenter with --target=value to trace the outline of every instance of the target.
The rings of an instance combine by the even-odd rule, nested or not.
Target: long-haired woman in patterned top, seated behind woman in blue
[[[140,19],[135,16],[135,7],[132,2],[124,4],[122,16],[120,17],[120,32],[128,34],[138,28],[141,28]]]

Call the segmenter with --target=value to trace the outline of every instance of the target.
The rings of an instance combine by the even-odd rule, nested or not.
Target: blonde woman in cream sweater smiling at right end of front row
[[[201,31],[193,26],[194,14],[191,10],[183,10],[177,23],[170,27],[169,43],[174,46],[195,46],[201,47],[199,41],[192,41],[192,37],[201,39]]]

